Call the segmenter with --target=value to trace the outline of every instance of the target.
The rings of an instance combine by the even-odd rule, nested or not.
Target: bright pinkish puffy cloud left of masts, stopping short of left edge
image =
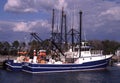
[[[36,31],[38,28],[50,28],[50,24],[46,20],[38,20],[38,21],[30,21],[30,22],[18,22],[15,24],[13,31],[18,32],[33,32]]]

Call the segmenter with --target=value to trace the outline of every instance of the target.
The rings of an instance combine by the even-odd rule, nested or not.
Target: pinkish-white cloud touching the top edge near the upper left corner
[[[37,12],[32,0],[7,0],[4,10],[11,12]]]

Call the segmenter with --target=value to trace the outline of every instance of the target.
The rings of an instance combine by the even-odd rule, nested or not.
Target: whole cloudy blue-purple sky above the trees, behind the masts
[[[87,40],[120,41],[119,0],[0,0],[0,41],[24,41],[36,32],[42,39],[50,37],[52,9],[56,25],[64,7],[69,29],[79,27],[83,11],[83,32]]]

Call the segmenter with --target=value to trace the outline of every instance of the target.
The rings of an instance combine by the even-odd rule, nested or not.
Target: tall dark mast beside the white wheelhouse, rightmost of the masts
[[[79,12],[80,15],[80,29],[79,29],[79,57],[81,57],[81,42],[82,42],[82,11]]]

